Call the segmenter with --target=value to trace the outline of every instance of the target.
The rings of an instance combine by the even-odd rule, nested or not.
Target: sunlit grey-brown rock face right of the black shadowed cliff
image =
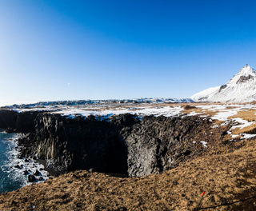
[[[144,117],[126,138],[128,174],[162,173],[200,153],[190,139],[209,123],[200,117]]]

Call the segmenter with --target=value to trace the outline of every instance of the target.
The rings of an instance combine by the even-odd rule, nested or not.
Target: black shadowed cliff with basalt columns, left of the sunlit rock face
[[[100,121],[94,116],[72,119],[39,113],[35,122],[35,132],[19,140],[22,157],[37,155],[59,172],[74,169],[127,172],[127,146],[120,131],[129,131],[139,122],[133,115]]]

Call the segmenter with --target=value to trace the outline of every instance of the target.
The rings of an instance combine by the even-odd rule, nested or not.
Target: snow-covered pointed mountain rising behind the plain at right
[[[246,65],[222,86],[203,90],[191,96],[195,102],[253,102],[256,101],[256,72]]]

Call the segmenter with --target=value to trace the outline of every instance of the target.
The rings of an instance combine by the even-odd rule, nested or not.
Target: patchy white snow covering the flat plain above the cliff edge
[[[189,111],[186,111],[185,107],[194,106]],[[214,127],[232,124],[232,127],[227,132],[233,140],[234,138],[250,138],[256,136],[256,134],[233,134],[234,129],[244,129],[248,126],[253,125],[254,121],[247,121],[242,117],[232,117],[240,111],[252,111],[256,121],[256,104],[254,103],[106,103],[106,104],[86,104],[78,106],[33,106],[21,109],[14,109],[17,112],[25,112],[32,110],[42,110],[48,113],[58,113],[68,118],[74,117],[88,117],[94,115],[98,120],[108,120],[113,115],[119,115],[123,113],[131,113],[137,115],[140,119],[144,116],[154,115],[176,117],[176,116],[193,116],[199,115],[201,117],[210,117],[212,121],[221,121],[220,124],[213,125]],[[211,114],[210,114],[211,113]],[[204,143],[202,143],[205,145]],[[205,145],[206,146],[206,145]]]

